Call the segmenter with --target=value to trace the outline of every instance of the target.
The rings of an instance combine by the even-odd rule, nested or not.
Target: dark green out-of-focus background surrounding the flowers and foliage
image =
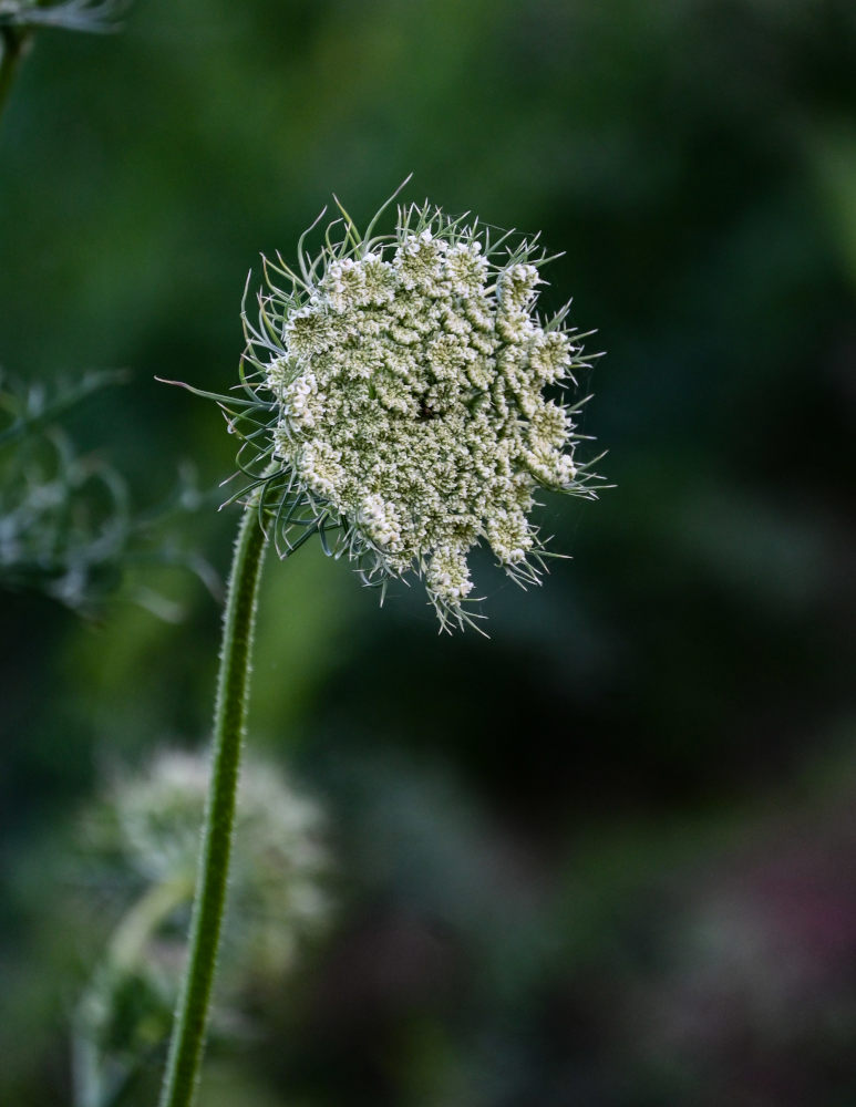
[[[259,251],[411,170],[565,250],[616,488],[547,504],[574,560],[540,590],[485,563],[489,641],[270,561],[250,743],[327,806],[339,909],[205,1103],[855,1104],[856,9],[140,0],[43,32],[0,134],[0,362],[130,369],[81,448],[143,506],[187,461],[214,488],[217,411],[153,377],[226,390]],[[235,524],[175,526],[223,573]],[[0,603],[0,1100],[53,1105],[100,940],[80,810],[205,741],[219,611],[146,566],[96,623]]]

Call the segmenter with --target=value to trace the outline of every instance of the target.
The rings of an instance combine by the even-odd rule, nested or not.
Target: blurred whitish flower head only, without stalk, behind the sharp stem
[[[199,851],[209,769],[197,754],[167,749],[147,770],[114,784],[91,846],[112,852],[144,888],[176,889],[165,922],[182,925],[189,907]],[[227,968],[268,977],[286,971],[301,940],[323,930],[330,902],[323,884],[331,860],[319,806],[279,769],[250,758],[241,773],[235,865],[227,927]],[[164,935],[161,934],[162,950]],[[149,963],[156,958],[149,951]]]

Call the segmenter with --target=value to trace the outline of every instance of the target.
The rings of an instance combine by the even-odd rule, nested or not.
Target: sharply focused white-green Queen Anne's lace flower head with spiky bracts
[[[536,489],[594,496],[561,400],[579,337],[567,308],[536,311],[534,241],[427,206],[400,208],[391,235],[342,215],[314,260],[301,239],[297,270],[266,261],[258,324],[245,313],[249,399],[224,402],[241,467],[283,556],[318,532],[367,582],[414,571],[443,627],[470,622],[468,551],[484,539],[535,582]]]

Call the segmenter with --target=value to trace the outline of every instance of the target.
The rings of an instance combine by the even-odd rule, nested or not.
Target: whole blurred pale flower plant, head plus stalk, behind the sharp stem
[[[206,758],[166,749],[143,773],[117,778],[87,813],[87,902],[95,891],[122,913],[74,1010],[75,1104],[117,1104],[132,1085],[145,1088],[169,1033],[208,779]],[[246,1033],[260,993],[329,925],[323,830],[314,801],[275,765],[247,759],[214,1011],[224,1039]]]

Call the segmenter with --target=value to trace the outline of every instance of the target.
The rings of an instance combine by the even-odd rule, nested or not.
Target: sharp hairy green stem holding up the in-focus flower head
[[[214,767],[203,829],[190,951],[178,1001],[161,1107],[190,1107],[199,1079],[226,901],[238,767],[247,716],[250,650],[267,537],[255,500],[244,511],[229,578],[214,716]]]

